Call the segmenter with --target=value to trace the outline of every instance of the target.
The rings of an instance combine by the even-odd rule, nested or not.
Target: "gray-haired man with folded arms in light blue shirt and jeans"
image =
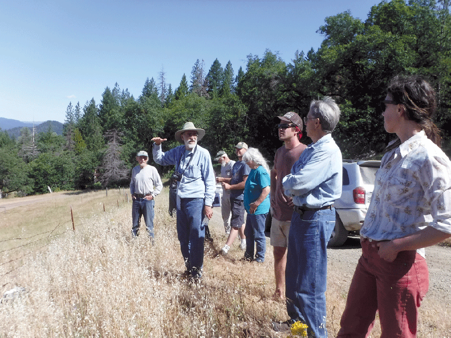
[[[272,322],[277,331],[300,320],[310,336],[327,337],[326,275],[327,243],[335,227],[333,203],[341,196],[341,152],[331,132],[340,109],[330,97],[312,101],[304,118],[305,131],[313,141],[285,176],[285,195],[294,206],[288,239],[285,272],[288,321]]]

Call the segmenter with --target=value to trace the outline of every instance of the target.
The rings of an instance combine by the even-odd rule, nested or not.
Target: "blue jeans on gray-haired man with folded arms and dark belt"
[[[335,227],[335,208],[293,212],[288,236],[285,295],[287,312],[308,325],[308,333],[327,337],[327,242]]]

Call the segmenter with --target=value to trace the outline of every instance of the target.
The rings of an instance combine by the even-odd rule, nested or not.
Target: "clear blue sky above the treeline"
[[[376,0],[0,1],[0,117],[64,122],[69,102],[98,104],[118,83],[135,98],[146,79],[176,89],[197,59],[235,75],[266,49],[291,62],[317,50],[324,19],[346,10],[362,21]],[[158,82],[158,81],[157,81]]]

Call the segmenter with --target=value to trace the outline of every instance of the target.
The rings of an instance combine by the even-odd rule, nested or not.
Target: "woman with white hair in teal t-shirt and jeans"
[[[269,190],[271,179],[269,166],[257,148],[249,148],[242,160],[252,169],[246,180],[244,205],[246,217],[245,260],[263,262],[266,252],[265,221],[269,211]],[[254,242],[256,253],[254,257]]]

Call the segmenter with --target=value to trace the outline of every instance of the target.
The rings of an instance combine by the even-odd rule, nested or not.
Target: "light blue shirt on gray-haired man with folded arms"
[[[282,184],[295,205],[321,208],[341,196],[342,174],[340,148],[327,134],[307,146]]]

